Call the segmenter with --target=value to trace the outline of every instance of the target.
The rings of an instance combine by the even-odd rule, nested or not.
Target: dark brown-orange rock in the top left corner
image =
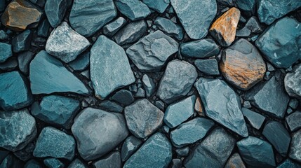
[[[14,31],[23,31],[36,27],[42,14],[41,9],[29,1],[13,0],[1,16],[1,23]]]

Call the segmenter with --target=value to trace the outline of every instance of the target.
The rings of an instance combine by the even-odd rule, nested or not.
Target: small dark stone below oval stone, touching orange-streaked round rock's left
[[[205,73],[206,75],[210,76],[217,76],[220,75],[220,70],[218,70],[218,61],[213,59],[196,59],[194,61],[196,68],[199,71]]]

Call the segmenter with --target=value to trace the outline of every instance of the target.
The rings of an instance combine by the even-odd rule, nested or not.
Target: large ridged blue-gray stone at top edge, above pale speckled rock
[[[96,31],[113,20],[116,15],[117,10],[113,0],[74,0],[69,15],[69,22],[79,34],[92,36]]]

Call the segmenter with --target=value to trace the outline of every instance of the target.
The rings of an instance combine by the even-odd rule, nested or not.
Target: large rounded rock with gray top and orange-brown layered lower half
[[[222,52],[222,76],[240,90],[248,90],[265,76],[266,65],[260,52],[241,38]]]

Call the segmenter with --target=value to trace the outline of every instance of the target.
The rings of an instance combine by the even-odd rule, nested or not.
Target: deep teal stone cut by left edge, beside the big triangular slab
[[[19,71],[0,73],[0,107],[5,111],[32,104],[29,82]]]

